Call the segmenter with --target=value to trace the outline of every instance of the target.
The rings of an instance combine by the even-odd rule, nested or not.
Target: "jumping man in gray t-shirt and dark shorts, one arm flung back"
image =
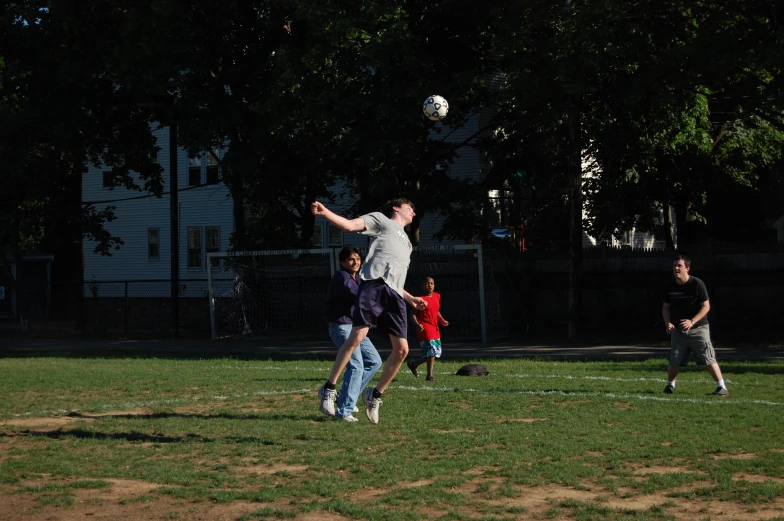
[[[361,279],[357,292],[357,305],[351,334],[338,351],[329,379],[319,389],[321,412],[335,416],[337,391],[335,384],[346,367],[354,349],[367,336],[371,327],[389,334],[392,354],[381,369],[381,377],[373,389],[362,393],[365,414],[372,423],[378,423],[381,395],[408,355],[405,303],[415,309],[424,309],[427,303],[403,289],[411,261],[411,241],[404,229],[414,219],[414,205],[404,198],[388,201],[383,212],[372,212],[356,219],[346,219],[316,201],[311,205],[313,215],[321,215],[338,228],[369,236],[370,250],[359,272]]]

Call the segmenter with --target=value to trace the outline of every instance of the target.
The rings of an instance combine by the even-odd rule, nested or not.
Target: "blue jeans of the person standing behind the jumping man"
[[[338,349],[343,346],[348,336],[351,334],[351,324],[329,323],[329,336]],[[338,395],[337,408],[335,415],[340,417],[351,416],[354,406],[359,399],[359,393],[367,387],[370,379],[381,368],[381,356],[376,351],[376,346],[369,338],[364,340],[351,353],[351,358],[346,365],[346,372],[343,374],[343,387],[340,388]]]

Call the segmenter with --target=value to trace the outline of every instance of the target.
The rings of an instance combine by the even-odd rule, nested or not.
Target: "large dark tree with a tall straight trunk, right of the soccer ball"
[[[572,230],[570,338],[579,323],[584,184],[589,229],[606,237],[652,227],[670,202],[679,219],[686,208],[697,215],[710,173],[749,184],[749,167],[762,164],[755,158],[774,157],[780,9],[768,1],[731,10],[719,2],[605,0],[499,10],[493,48],[507,81],[488,150],[498,165],[560,174]],[[773,58],[754,52],[744,63],[760,33]],[[729,117],[719,108],[727,100]],[[580,158],[592,170],[587,180]]]

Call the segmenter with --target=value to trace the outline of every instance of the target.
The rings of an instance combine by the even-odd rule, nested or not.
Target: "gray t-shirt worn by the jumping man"
[[[411,263],[411,241],[400,223],[381,212],[362,216],[370,249],[365,264],[359,270],[362,280],[384,279],[387,286],[403,296],[408,265]]]

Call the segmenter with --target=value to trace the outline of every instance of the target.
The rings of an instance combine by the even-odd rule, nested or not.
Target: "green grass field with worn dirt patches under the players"
[[[0,359],[0,519],[784,520],[782,363],[466,362],[374,426],[326,360]]]

